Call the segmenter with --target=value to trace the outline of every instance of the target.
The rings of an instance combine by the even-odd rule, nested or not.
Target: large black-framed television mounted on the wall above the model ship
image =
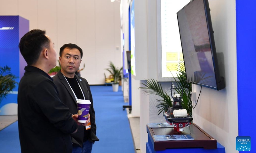
[[[208,0],[192,0],[177,12],[182,53],[187,81],[221,90],[220,76],[213,37]]]

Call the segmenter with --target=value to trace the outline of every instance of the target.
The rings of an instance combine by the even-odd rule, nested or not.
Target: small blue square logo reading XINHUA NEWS
[[[236,137],[236,151],[251,151],[251,137],[237,136]]]

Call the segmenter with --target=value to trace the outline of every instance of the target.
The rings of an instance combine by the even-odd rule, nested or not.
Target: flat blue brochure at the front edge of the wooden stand
[[[194,140],[191,135],[153,135],[156,141],[184,141]]]

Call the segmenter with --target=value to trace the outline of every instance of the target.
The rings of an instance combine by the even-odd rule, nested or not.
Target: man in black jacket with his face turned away
[[[82,124],[76,123],[78,115],[71,115],[61,102],[53,79],[47,74],[56,66],[54,43],[45,31],[35,29],[21,38],[19,48],[28,64],[18,89],[21,152],[71,153],[70,134]]]

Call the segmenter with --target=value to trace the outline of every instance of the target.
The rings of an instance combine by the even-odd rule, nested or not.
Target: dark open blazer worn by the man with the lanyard
[[[98,137],[96,136],[95,111],[93,108],[93,100],[92,100],[92,93],[90,90],[90,86],[83,77],[79,77],[77,75],[75,75],[75,77],[84,92],[85,99],[91,101],[91,106],[89,111],[91,116],[91,133],[89,134],[88,139],[91,140],[92,142],[99,141]],[[58,74],[56,74],[53,77],[53,82],[57,86],[61,101],[68,106],[70,113],[77,114],[76,98],[72,90],[70,89],[70,86],[68,85],[67,80],[65,79],[65,77],[60,71],[58,72]],[[73,143],[79,144],[80,146],[83,145],[84,128],[85,128],[84,126],[78,126],[77,132],[71,135]]]

